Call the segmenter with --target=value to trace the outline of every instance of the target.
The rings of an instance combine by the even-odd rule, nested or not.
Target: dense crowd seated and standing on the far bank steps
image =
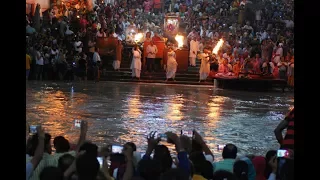
[[[167,64],[154,58],[157,47],[146,48],[145,67],[140,47],[132,54],[132,77],[140,73],[166,71],[174,79],[179,64],[177,42],[163,27],[167,12],[180,19],[179,34],[189,49],[189,65],[200,65],[200,81],[208,77],[275,78],[294,86],[294,41],[292,1],[165,1],[164,11],[152,0],[99,3],[92,11],[86,4],[62,4],[48,11],[41,21],[27,17],[27,79],[99,80],[108,68],[119,70],[121,58],[116,50],[102,57],[96,48],[97,37],[117,38],[126,46],[129,28],[143,33],[142,41],[166,41],[170,50]],[[220,39],[224,43],[212,55]],[[139,50],[139,51],[138,51]],[[118,52],[118,51],[117,51]],[[135,55],[134,55],[135,54]],[[125,55],[123,54],[122,57]]]

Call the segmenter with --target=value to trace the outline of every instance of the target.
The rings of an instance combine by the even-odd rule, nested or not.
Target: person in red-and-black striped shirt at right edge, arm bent
[[[287,129],[287,132],[283,138],[282,131],[284,129]],[[274,130],[274,134],[280,144],[281,149],[294,149],[294,108],[292,108],[284,120],[278,124]]]

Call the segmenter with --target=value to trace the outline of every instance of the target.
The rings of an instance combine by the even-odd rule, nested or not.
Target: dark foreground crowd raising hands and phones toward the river
[[[213,150],[197,131],[192,136],[173,132],[150,132],[145,152],[137,145],[98,147],[86,140],[88,123],[80,121],[77,145],[63,136],[53,139],[41,125],[27,125],[27,180],[292,180],[294,179],[294,109],[275,129],[280,150],[270,150],[265,156],[237,155],[235,144],[226,144],[223,160],[216,161]],[[36,129],[35,129],[35,128]],[[285,137],[282,131],[287,129]],[[30,134],[29,132],[33,133]],[[170,152],[163,142],[175,145]],[[174,155],[173,155],[174,154]]]

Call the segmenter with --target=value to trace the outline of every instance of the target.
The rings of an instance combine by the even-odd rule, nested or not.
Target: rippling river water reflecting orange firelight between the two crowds
[[[26,102],[29,124],[42,124],[52,137],[72,143],[79,136],[75,119],[88,121],[88,139],[99,146],[133,141],[142,152],[150,131],[196,129],[220,159],[216,147],[226,143],[237,145],[240,155],[277,149],[273,130],[294,98],[212,86],[27,82]]]

